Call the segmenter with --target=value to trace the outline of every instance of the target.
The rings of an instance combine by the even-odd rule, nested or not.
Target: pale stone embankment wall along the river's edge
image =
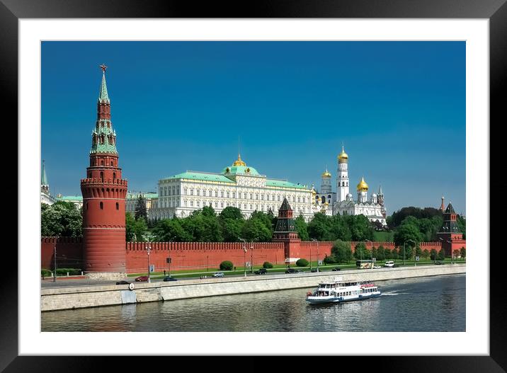
[[[421,265],[419,267],[381,268],[377,270],[345,270],[343,272],[304,272],[292,275],[263,275],[258,277],[223,277],[206,280],[152,282],[128,285],[64,287],[42,289],[42,311],[110,306],[139,302],[169,301],[216,295],[269,292],[273,290],[315,287],[319,282],[341,280],[380,281],[408,277],[451,275],[465,273],[463,265]]]

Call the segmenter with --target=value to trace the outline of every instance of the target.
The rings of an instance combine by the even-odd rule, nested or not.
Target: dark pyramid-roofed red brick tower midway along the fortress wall
[[[285,263],[293,263],[299,256],[301,239],[297,235],[297,230],[292,217],[287,198],[283,199],[282,205],[278,210],[278,219],[276,221],[275,231],[273,232],[273,242],[283,242],[285,252]]]

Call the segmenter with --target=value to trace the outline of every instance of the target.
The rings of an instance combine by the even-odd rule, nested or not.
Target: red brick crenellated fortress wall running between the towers
[[[359,242],[352,241],[352,251]],[[384,246],[392,250],[394,242],[365,241],[365,246],[371,249]],[[83,243],[81,239],[69,237],[42,237],[41,241],[41,268],[52,269],[54,266],[54,248],[57,249],[57,268],[83,269]],[[255,242],[246,243],[246,255],[243,243],[236,242],[127,242],[125,246],[125,267],[127,273],[146,272],[148,256],[146,248],[151,248],[149,263],[155,265],[156,272],[169,270],[166,258],[171,257],[171,270],[218,268],[224,260],[231,260],[238,267],[244,262],[253,261],[253,265],[262,265],[264,262],[283,264],[285,261],[284,244],[281,242]],[[305,258],[307,260],[324,259],[331,255],[332,241],[301,241],[290,249],[292,258]],[[437,251],[442,247],[440,242],[421,242],[421,249]]]

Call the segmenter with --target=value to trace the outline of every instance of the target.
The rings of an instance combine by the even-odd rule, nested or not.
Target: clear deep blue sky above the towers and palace
[[[345,144],[388,214],[465,208],[465,42],[42,42],[42,159],[53,195],[80,195],[106,64],[130,190],[241,158],[320,188]],[[355,188],[351,191],[355,195]]]

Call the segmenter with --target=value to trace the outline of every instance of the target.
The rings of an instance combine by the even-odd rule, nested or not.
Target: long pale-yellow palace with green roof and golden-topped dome
[[[267,178],[246,166],[238,154],[232,166],[221,173],[186,171],[159,180],[158,199],[152,201],[149,219],[187,217],[195,210],[211,206],[220,213],[225,207],[238,207],[248,218],[252,212],[278,214],[284,198],[290,202],[296,216],[306,221],[316,212],[331,215],[331,207],[315,202],[315,190],[300,183]]]

